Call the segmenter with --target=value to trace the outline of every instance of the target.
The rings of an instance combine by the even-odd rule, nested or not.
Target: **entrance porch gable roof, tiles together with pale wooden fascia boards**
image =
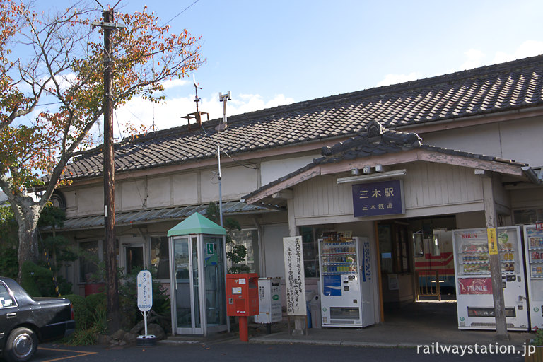
[[[385,129],[376,121],[368,124],[367,132],[332,147],[325,146],[321,153],[321,158],[260,187],[243,199],[248,204],[273,205],[281,199],[277,196],[279,192],[315,176],[345,173],[364,166],[375,168],[375,165],[392,166],[416,161],[470,167],[501,173],[538,185],[542,183],[526,163],[424,145],[418,134]]]

